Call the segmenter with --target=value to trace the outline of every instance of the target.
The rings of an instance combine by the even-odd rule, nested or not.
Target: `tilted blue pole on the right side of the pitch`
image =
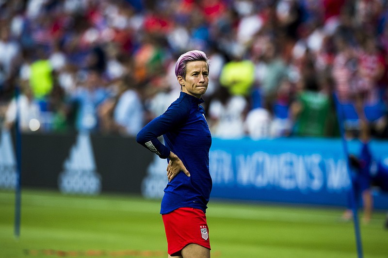
[[[339,100],[336,96],[336,94],[333,94],[334,96],[334,101],[336,104],[336,110],[337,110],[337,116],[338,116],[338,124],[339,124],[339,133],[341,135],[341,141],[342,141],[342,147],[343,147],[343,152],[346,157],[346,168],[348,172],[348,176],[350,178],[350,192],[351,192],[351,205],[352,205],[352,213],[353,213],[353,224],[355,227],[355,235],[356,235],[356,247],[357,247],[357,257],[362,258],[363,253],[362,253],[362,242],[361,242],[361,234],[360,234],[360,226],[358,223],[358,215],[357,215],[357,206],[358,204],[356,203],[356,193],[355,189],[353,186],[352,182],[352,175],[351,175],[351,170],[350,170],[350,165],[349,165],[349,150],[348,150],[348,145],[346,143],[345,139],[345,130],[343,128],[343,121],[344,121],[344,111],[343,107],[340,105]]]

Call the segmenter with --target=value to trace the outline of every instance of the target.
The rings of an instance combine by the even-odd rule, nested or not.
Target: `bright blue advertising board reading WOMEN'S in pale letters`
[[[350,153],[361,144],[348,142]],[[371,142],[373,157],[388,156],[387,142]],[[212,198],[347,206],[351,187],[339,139],[279,138],[254,141],[213,138]],[[388,209],[388,195],[374,192],[374,207]]]

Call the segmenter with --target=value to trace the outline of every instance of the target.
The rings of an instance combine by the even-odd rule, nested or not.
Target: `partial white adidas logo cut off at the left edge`
[[[11,133],[3,129],[0,135],[0,189],[15,189],[16,177],[16,158]]]

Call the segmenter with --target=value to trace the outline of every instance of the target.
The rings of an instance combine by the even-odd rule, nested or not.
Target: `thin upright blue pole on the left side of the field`
[[[16,189],[15,189],[15,227],[14,235],[18,239],[20,236],[20,211],[21,211],[21,135],[20,135],[20,103],[19,86],[15,87],[16,98]]]

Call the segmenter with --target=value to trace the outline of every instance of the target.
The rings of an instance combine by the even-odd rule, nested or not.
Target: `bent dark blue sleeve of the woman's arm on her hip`
[[[154,118],[136,136],[136,142],[145,146],[162,159],[170,156],[170,149],[163,145],[158,137],[180,127],[188,117],[188,109],[171,105],[166,112]]]

